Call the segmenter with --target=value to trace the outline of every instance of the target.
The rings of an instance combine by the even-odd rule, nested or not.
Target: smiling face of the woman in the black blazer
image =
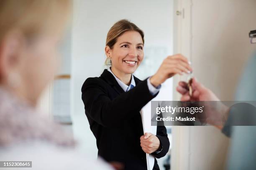
[[[144,57],[143,41],[137,31],[127,31],[118,37],[110,50],[112,67],[120,72],[132,74]]]

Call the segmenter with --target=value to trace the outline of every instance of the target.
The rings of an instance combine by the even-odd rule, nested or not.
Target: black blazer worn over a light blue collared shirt
[[[141,108],[156,95],[148,90],[147,80],[134,77],[136,86],[125,92],[115,77],[104,70],[100,77],[87,78],[82,86],[82,100],[90,129],[96,138],[98,156],[106,161],[118,161],[125,170],[147,170],[146,153],[140,145],[143,135]],[[164,126],[157,127],[162,151],[161,158],[169,150],[169,139]],[[154,170],[159,166],[155,159]]]

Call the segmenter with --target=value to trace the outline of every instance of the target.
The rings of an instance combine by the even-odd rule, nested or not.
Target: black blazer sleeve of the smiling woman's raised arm
[[[157,95],[157,94],[156,94]],[[95,122],[105,127],[116,127],[133,117],[156,95],[148,90],[147,80],[143,80],[128,92],[110,100],[106,82],[98,77],[90,77],[82,86],[82,100],[85,112]]]

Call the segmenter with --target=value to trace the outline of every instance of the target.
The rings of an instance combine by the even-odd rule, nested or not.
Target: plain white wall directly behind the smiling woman
[[[84,114],[81,87],[87,77],[100,76],[103,71],[108,30],[120,19],[131,20],[145,33],[145,54],[150,53],[152,49],[154,54],[162,54],[158,49],[164,49],[164,56],[155,56],[155,66],[158,67],[159,60],[163,60],[167,54],[172,54],[172,3],[172,0],[74,1],[71,100],[73,129],[75,138],[81,141],[82,149],[92,157],[97,157],[96,141]],[[156,71],[156,68],[154,69]],[[146,70],[140,70],[139,75],[141,72],[144,72],[143,75],[148,74]],[[171,100],[172,80],[164,87],[167,92],[162,100]]]

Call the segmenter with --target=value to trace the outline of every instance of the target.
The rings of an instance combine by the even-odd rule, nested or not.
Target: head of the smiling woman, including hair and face
[[[143,45],[143,31],[128,20],[120,20],[108,32],[105,47],[107,55],[105,64],[112,65],[112,71],[115,73],[117,72],[116,70],[123,70],[122,72],[131,74],[135,72],[143,60]],[[126,56],[127,53],[130,54],[128,57]],[[137,58],[135,58],[135,53],[137,53]],[[113,67],[113,65],[116,67]],[[118,77],[123,76],[119,75]],[[130,78],[128,77],[128,79]],[[125,82],[125,84],[128,83]]]

